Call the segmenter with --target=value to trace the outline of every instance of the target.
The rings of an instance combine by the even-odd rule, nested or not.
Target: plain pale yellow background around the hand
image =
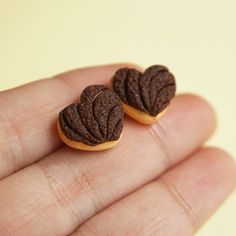
[[[236,156],[235,0],[0,0],[0,89],[75,67],[129,61],[171,68],[178,91],[219,117],[211,144]],[[236,235],[236,195],[200,236]]]

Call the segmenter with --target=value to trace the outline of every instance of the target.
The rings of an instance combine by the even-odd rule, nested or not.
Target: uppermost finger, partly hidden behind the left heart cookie
[[[0,179],[58,148],[58,113],[124,64],[85,68],[0,93]]]

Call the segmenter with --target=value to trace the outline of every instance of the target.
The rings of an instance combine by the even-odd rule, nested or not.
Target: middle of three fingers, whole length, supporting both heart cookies
[[[69,234],[183,160],[213,130],[209,105],[181,95],[160,123],[147,127],[127,120],[123,138],[112,150],[88,153],[62,147],[0,182],[0,228],[13,235]],[[179,139],[184,140],[182,148]]]

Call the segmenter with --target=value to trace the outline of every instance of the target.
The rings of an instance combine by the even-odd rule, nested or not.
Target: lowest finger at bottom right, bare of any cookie
[[[236,185],[225,152],[203,149],[159,179],[95,215],[73,236],[190,236]]]

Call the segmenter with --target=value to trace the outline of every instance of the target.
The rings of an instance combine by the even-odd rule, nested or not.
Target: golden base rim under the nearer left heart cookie
[[[74,148],[74,149],[78,149],[78,150],[83,150],[83,151],[91,151],[91,152],[102,151],[102,150],[113,148],[114,146],[116,146],[119,143],[121,136],[122,136],[122,134],[121,134],[119,139],[115,140],[115,141],[109,141],[109,142],[97,144],[95,146],[90,146],[90,145],[87,145],[87,144],[84,144],[81,142],[77,142],[77,141],[73,141],[73,140],[67,138],[61,130],[59,121],[57,121],[57,130],[58,130],[58,134],[59,134],[59,137],[61,138],[61,140],[69,147]]]

